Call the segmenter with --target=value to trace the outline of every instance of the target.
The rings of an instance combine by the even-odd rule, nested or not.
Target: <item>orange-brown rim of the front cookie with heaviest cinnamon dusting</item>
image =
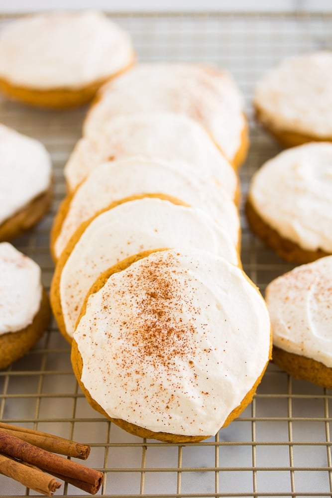
[[[153,251],[151,251],[151,250],[144,251],[144,252],[141,252],[141,253],[136,254],[134,256],[130,256],[130,257],[124,259],[123,261],[120,261],[118,264],[112,266],[107,271],[105,271],[97,279],[95,284],[91,287],[91,289],[90,289],[90,291],[85,299],[85,302],[82,306],[80,317],[77,320],[77,325],[80,322],[81,318],[85,315],[86,306],[87,306],[89,296],[91,294],[98,292],[105,285],[105,283],[107,282],[107,280],[110,278],[110,276],[113,273],[117,273],[119,271],[124,270],[125,268],[130,266],[130,264],[132,264],[133,262],[138,261],[139,259],[146,257],[149,254],[151,254],[152,252],[156,252],[158,250],[165,250],[165,249],[156,249]],[[272,341],[271,341],[269,358],[271,358],[271,349],[272,349]],[[97,401],[95,401],[93,399],[90,392],[86,389],[85,385],[83,384],[83,382],[81,380],[82,371],[83,371],[83,360],[82,360],[82,356],[79,352],[78,345],[77,345],[75,339],[73,339],[73,342],[72,342],[71,361],[72,361],[73,371],[75,373],[77,381],[79,382],[80,387],[81,387],[83,393],[85,394],[89,404],[92,406],[92,408],[94,408],[95,410],[100,412],[102,415],[104,415],[109,420],[111,420],[111,422],[118,425],[119,427],[121,427],[125,431],[129,432],[130,434],[133,434],[135,436],[139,436],[142,438],[147,438],[147,439],[158,439],[159,441],[163,441],[166,443],[194,443],[194,442],[203,441],[204,439],[207,439],[210,437],[210,435],[185,436],[185,435],[179,435],[179,434],[170,434],[167,432],[154,432],[154,431],[151,431],[149,429],[145,429],[144,427],[140,427],[138,425],[127,422],[125,420],[110,417],[106,413],[106,411],[100,406],[100,404],[97,403]],[[247,405],[252,401],[252,398],[256,392],[257,386],[260,383],[263,374],[265,373],[267,365],[268,365],[268,361],[267,361],[262,373],[259,375],[256,382],[252,386],[252,388],[244,396],[241,403],[230,412],[230,414],[226,418],[225,422],[223,423],[222,427],[226,427],[228,424],[230,424],[230,422],[232,422],[234,420],[234,418],[236,418],[247,407]]]

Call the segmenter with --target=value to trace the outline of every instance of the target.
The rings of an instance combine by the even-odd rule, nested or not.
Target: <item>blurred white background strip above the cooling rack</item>
[[[0,0],[0,12],[101,8],[112,11],[332,11],[332,0]]]

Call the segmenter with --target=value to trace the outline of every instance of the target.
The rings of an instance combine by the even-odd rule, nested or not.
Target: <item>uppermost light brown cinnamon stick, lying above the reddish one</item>
[[[60,453],[67,457],[76,457],[81,460],[86,460],[90,455],[90,446],[88,444],[76,443],[70,439],[65,439],[60,436],[53,436],[47,432],[35,431],[33,429],[26,429],[17,427],[16,425],[5,424],[0,422],[0,431],[12,433],[13,436],[31,443],[38,448],[42,448],[52,453]]]

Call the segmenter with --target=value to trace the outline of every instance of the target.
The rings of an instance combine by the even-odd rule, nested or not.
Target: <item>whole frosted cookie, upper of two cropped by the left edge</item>
[[[0,241],[31,228],[51,204],[52,166],[45,147],[0,124]]]

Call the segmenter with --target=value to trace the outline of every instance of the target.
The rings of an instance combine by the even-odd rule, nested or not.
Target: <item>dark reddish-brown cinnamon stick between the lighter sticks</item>
[[[0,453],[23,460],[51,474],[61,475],[65,481],[67,478],[83,481],[97,491],[103,483],[104,475],[101,472],[37,448],[5,431],[0,432]]]

